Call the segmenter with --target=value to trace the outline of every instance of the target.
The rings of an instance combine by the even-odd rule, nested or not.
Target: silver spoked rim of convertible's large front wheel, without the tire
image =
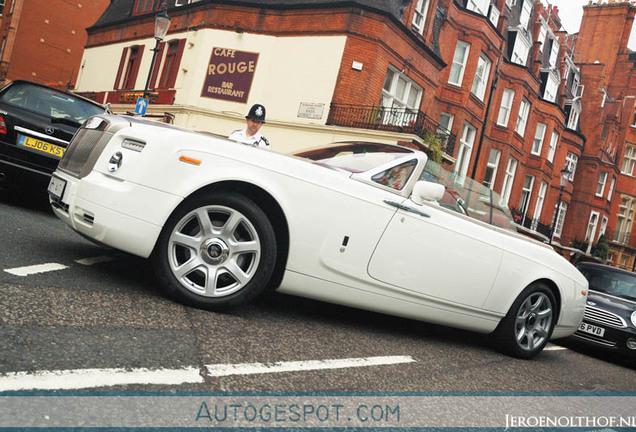
[[[204,297],[225,297],[244,288],[257,272],[261,240],[240,211],[221,205],[195,208],[172,229],[168,263],[176,280]]]

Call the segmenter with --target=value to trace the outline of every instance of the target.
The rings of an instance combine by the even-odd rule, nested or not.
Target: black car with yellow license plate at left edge
[[[106,111],[89,99],[45,85],[22,80],[7,84],[0,90],[0,179],[25,173],[50,176],[75,131]]]

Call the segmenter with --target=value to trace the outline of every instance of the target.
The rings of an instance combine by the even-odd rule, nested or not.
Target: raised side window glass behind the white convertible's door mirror
[[[447,171],[440,164],[428,160],[420,180],[436,182],[446,188],[439,205],[466,216],[509,231],[517,231],[510,209],[501,196],[474,181]]]

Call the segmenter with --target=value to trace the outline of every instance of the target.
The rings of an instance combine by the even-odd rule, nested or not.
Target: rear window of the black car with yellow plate
[[[2,102],[26,108],[55,121],[80,125],[89,117],[104,113],[105,108],[71,94],[57,92],[28,83],[16,83],[2,95]]]

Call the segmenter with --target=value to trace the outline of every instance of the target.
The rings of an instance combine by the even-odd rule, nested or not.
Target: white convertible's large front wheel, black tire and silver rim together
[[[249,302],[267,286],[276,263],[276,237],[263,210],[249,198],[210,192],[175,210],[151,259],[170,296],[224,311]]]

